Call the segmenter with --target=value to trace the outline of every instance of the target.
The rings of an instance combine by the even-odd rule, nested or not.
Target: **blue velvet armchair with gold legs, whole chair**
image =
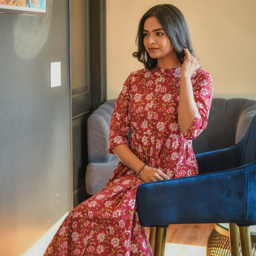
[[[194,177],[138,187],[140,223],[157,227],[150,235],[154,255],[164,255],[166,227],[181,223],[236,223],[242,255],[252,255],[248,226],[256,225],[256,115],[238,143],[196,159],[199,174]],[[238,246],[232,244],[232,255],[239,255]]]

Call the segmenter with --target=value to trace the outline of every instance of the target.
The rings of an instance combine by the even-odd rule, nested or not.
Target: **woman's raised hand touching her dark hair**
[[[184,49],[185,56],[184,56],[184,62],[182,63],[181,69],[180,69],[180,76],[188,76],[191,77],[191,75],[200,68],[198,60],[189,52],[188,49]]]

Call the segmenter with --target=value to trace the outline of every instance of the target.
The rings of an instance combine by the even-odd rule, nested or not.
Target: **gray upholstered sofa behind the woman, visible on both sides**
[[[104,102],[88,118],[89,164],[85,178],[88,195],[105,186],[119,162],[114,154],[108,154],[109,124],[115,101]],[[213,99],[208,125],[193,140],[195,154],[230,147],[243,137],[255,114],[256,100]]]

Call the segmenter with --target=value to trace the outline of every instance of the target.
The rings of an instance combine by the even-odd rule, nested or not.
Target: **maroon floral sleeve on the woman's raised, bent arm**
[[[192,81],[193,82],[193,81]],[[198,112],[188,131],[184,134],[187,140],[196,138],[206,127],[212,102],[212,78],[207,72],[202,72],[193,83],[193,93]]]

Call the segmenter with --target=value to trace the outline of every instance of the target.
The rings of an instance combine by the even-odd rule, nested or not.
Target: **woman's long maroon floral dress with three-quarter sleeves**
[[[110,125],[109,152],[128,141],[144,163],[170,179],[196,175],[192,140],[207,125],[212,100],[211,76],[196,70],[191,77],[198,113],[182,134],[177,122],[180,68],[132,72],[116,100]],[[49,244],[47,255],[153,255],[136,212],[136,189],[143,181],[121,162],[106,187],[79,204]]]

